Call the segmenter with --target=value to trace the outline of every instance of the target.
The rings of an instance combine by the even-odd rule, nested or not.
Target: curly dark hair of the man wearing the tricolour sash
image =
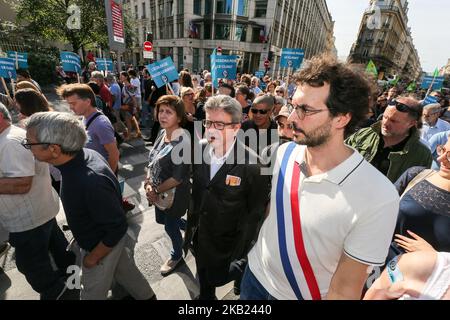
[[[330,114],[351,114],[344,136],[354,133],[358,125],[367,118],[373,85],[364,70],[356,65],[338,62],[328,55],[320,55],[306,62],[306,67],[294,75],[298,84],[311,87],[330,85],[330,94],[325,102]]]

